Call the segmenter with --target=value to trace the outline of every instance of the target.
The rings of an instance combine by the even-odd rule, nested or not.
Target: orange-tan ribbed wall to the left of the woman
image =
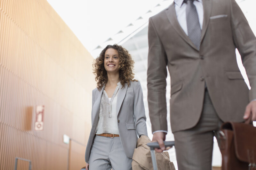
[[[0,0],[0,170],[13,170],[16,157],[33,170],[85,165],[92,62],[46,0]],[[37,105],[44,105],[42,131],[34,130]],[[28,162],[17,166],[27,170]]]

